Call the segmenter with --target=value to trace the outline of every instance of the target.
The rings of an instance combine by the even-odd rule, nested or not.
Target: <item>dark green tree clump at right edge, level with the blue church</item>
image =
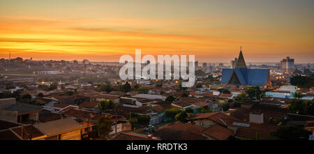
[[[313,87],[314,74],[310,76],[295,75],[294,77],[290,77],[290,84],[304,88]]]

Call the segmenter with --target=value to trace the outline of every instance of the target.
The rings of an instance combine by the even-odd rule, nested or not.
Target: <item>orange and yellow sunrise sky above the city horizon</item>
[[[0,58],[118,61],[195,54],[229,62],[314,63],[313,0],[0,0]]]

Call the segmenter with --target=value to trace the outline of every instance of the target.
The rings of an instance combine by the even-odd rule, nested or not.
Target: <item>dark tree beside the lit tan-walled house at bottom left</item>
[[[111,121],[110,117],[101,116],[98,119],[97,127],[98,127],[98,135],[100,139],[109,138],[109,134],[110,132],[112,132],[112,124],[113,124],[113,121]]]

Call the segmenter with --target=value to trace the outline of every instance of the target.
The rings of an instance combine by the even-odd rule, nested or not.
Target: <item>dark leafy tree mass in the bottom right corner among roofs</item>
[[[299,128],[294,125],[284,125],[278,128],[275,132],[271,132],[271,135],[284,140],[308,140],[308,136],[312,134],[308,130]]]

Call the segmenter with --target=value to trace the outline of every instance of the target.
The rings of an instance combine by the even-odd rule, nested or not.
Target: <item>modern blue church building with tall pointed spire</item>
[[[268,69],[248,69],[242,51],[235,68],[224,68],[221,84],[238,86],[271,86]]]

